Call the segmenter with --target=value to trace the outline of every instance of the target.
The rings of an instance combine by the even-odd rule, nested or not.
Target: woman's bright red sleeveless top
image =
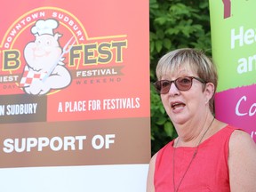
[[[199,146],[195,159],[188,164],[196,148],[179,147],[175,151],[174,182],[179,192],[230,192],[228,177],[228,141],[236,130],[227,125],[204,140]],[[172,192],[173,187],[173,140],[160,149],[156,156],[154,184],[156,192]]]

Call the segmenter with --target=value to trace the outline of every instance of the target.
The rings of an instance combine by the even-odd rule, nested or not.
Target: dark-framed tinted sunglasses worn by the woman
[[[198,78],[196,76],[184,76],[184,77],[179,77],[173,81],[169,81],[169,80],[156,81],[156,83],[154,83],[154,85],[156,88],[156,92],[158,92],[160,94],[166,94],[167,92],[169,92],[172,83],[175,84],[175,86],[177,87],[178,90],[188,91],[192,86],[193,79],[196,79],[197,81],[201,82],[202,84],[206,84],[206,82],[204,82],[203,79]]]

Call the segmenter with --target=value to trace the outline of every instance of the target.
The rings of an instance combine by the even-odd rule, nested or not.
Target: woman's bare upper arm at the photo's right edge
[[[256,188],[256,144],[247,132],[236,130],[229,140],[228,168],[232,192]]]

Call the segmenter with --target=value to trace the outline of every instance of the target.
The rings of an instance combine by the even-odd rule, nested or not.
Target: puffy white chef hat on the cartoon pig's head
[[[31,28],[31,32],[35,35],[44,35],[44,34],[49,34],[53,35],[53,29],[57,28],[59,25],[57,20],[37,20],[36,25]]]

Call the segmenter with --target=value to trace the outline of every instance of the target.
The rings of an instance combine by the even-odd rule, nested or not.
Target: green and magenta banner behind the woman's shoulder
[[[255,1],[210,0],[212,57],[219,70],[216,116],[256,141]]]

